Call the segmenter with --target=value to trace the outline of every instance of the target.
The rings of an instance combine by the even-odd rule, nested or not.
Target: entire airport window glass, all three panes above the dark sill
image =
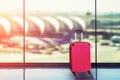
[[[96,54],[100,63],[119,62],[119,0],[107,3],[97,0],[95,20],[95,0],[25,0],[25,4],[22,0],[1,1],[0,63],[24,59],[26,63],[68,63],[74,28],[85,29],[83,41],[91,44],[92,63]]]

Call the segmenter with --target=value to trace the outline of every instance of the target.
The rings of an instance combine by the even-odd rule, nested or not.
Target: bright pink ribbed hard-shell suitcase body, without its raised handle
[[[70,43],[70,69],[73,73],[90,71],[91,58],[88,42],[75,41]]]

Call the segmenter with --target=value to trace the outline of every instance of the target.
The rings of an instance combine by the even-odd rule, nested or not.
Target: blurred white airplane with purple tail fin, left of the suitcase
[[[74,29],[70,30],[62,39],[40,38],[30,36],[12,36],[1,39],[0,44],[4,47],[14,47],[26,50],[61,50],[61,45],[70,43],[74,34]]]

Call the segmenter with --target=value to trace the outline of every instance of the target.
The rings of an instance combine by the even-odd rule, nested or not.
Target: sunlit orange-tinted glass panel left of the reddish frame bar
[[[23,42],[17,38],[23,35],[22,11],[22,0],[0,0],[0,63],[23,61]]]

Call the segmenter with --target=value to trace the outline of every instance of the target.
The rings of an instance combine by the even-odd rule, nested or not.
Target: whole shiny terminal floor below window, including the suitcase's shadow
[[[69,66],[1,67],[0,80],[119,80],[120,68],[93,68],[89,73],[73,75]],[[96,72],[97,71],[97,72]]]

